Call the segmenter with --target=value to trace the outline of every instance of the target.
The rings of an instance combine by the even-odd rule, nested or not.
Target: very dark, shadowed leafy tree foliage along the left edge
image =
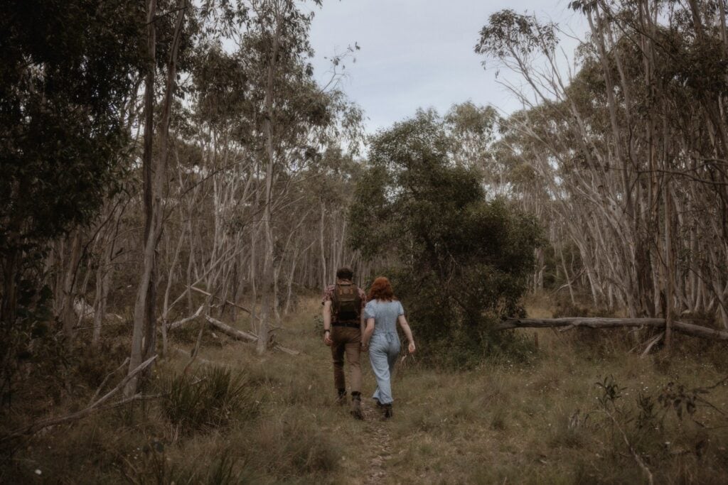
[[[96,214],[128,155],[141,5],[0,6],[0,321],[39,297],[47,243]]]

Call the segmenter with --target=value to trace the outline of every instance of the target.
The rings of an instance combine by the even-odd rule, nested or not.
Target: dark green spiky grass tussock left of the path
[[[162,410],[173,425],[185,432],[249,420],[260,407],[247,375],[221,366],[205,368],[196,376],[173,377],[166,390]]]

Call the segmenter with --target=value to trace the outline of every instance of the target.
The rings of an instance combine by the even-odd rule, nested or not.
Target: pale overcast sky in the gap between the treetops
[[[484,70],[473,52],[488,16],[510,8],[535,12],[576,33],[585,29],[568,0],[325,0],[316,10],[311,41],[314,68],[327,79],[324,57],[355,42],[356,63],[347,61],[344,92],[364,108],[370,132],[411,116],[417,108],[443,113],[453,103],[472,100],[510,112],[520,108]],[[575,45],[569,41],[566,49]],[[571,48],[569,48],[571,47]]]

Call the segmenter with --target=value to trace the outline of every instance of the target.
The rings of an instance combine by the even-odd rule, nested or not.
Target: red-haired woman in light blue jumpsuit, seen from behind
[[[394,292],[389,280],[380,276],[374,280],[364,308],[366,328],[362,336],[363,348],[369,348],[369,360],[376,377],[376,391],[372,396],[377,406],[384,411],[384,418],[392,417],[392,371],[400,353],[400,337],[397,322],[409,342],[409,353],[415,350],[412,330],[405,318],[405,310]]]

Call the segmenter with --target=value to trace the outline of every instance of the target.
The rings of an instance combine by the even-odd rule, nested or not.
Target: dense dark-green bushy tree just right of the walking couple
[[[457,360],[509,340],[488,329],[522,313],[541,230],[504,201],[486,199],[479,173],[451,161],[454,142],[424,111],[379,134],[349,223],[352,246],[389,258],[424,349],[447,349]]]

